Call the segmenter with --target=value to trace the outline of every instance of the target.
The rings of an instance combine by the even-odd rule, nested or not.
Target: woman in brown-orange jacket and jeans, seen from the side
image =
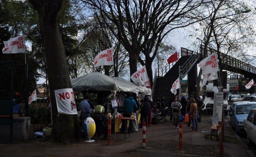
[[[190,118],[192,120],[192,129],[188,130],[188,131],[197,131],[197,126],[198,126],[198,122],[197,122],[197,104],[196,101],[194,100],[194,98],[190,99]]]

